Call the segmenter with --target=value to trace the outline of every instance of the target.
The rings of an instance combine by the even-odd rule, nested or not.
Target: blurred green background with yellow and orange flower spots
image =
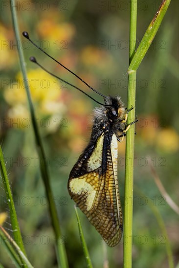
[[[104,95],[119,95],[127,102],[129,62],[129,1],[16,1],[20,32],[32,40]],[[160,1],[138,1],[137,45]],[[151,172],[151,165],[178,204],[178,1],[173,0],[157,36],[138,71],[134,155],[134,245],[133,267],[169,267],[166,235],[160,229],[153,207],[167,229],[175,265],[178,263],[178,215],[165,201]],[[177,34],[176,34],[177,33]],[[24,82],[20,72],[10,5],[1,1],[1,146],[9,175],[23,242],[35,267],[57,267],[54,235],[48,214],[39,158],[34,142]],[[45,147],[51,186],[67,249],[69,266],[85,267],[74,202],[67,191],[69,172],[90,137],[91,116],[98,106],[87,96],[46,74],[30,56],[50,72],[75,84],[98,101],[76,77],[33,47],[22,37],[28,83],[36,118]],[[129,108],[129,107],[128,107]],[[119,144],[118,178],[124,211],[125,141]],[[129,160],[130,164],[130,160]],[[1,211],[8,206],[1,183]],[[112,268],[122,267],[123,239],[115,248],[105,243],[86,216],[79,211],[94,267],[109,260]],[[12,235],[7,219],[6,229]],[[13,267],[1,254],[4,267]]]

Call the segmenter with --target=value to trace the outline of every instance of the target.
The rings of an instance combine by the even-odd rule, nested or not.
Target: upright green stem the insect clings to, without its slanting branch
[[[137,21],[137,1],[131,0],[130,15],[130,39],[129,39],[129,63],[135,53],[136,44],[136,21]],[[135,84],[136,72],[128,77],[128,101],[127,107],[135,107]],[[135,108],[128,116],[127,124],[135,118]],[[125,207],[124,207],[124,255],[123,265],[125,268],[132,267],[132,233],[133,233],[133,176],[134,176],[134,125],[129,129],[126,136],[126,163],[125,163]]]

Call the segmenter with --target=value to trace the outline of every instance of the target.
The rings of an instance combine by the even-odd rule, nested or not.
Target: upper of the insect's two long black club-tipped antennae
[[[92,88],[89,84],[87,84],[81,77],[77,76],[75,73],[73,73],[72,71],[70,71],[66,66],[64,66],[62,63],[60,63],[58,60],[56,60],[54,57],[51,57],[49,54],[47,54],[41,47],[39,47],[37,44],[35,44],[30,38],[27,32],[22,32],[22,35],[27,38],[35,47],[37,47],[38,49],[40,49],[43,53],[45,53],[45,55],[47,55],[48,57],[50,57],[51,59],[53,59],[54,61],[56,61],[58,64],[60,64],[62,67],[64,67],[68,72],[70,72],[72,75],[74,75],[75,77],[77,77],[78,79],[80,79],[85,85],[87,85],[90,89],[92,89],[94,92],[96,92],[97,94],[108,98],[107,96],[99,93],[97,90],[95,90],[94,88]],[[61,79],[62,80],[62,79]]]

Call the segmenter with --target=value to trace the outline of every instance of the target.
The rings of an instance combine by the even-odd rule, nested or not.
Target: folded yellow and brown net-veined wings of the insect
[[[102,134],[90,157],[74,166],[79,177],[70,177],[68,191],[90,223],[110,247],[116,246],[122,236],[122,211],[117,179],[117,139]],[[73,171],[73,170],[72,170]]]

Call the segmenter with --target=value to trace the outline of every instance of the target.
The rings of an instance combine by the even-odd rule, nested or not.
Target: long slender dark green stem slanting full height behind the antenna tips
[[[51,222],[52,222],[52,227],[55,233],[55,239],[56,239],[56,253],[57,253],[57,259],[59,265],[63,268],[67,268],[67,255],[66,255],[66,250],[65,246],[63,243],[60,242],[60,237],[61,237],[61,231],[60,231],[60,226],[59,226],[59,221],[58,221],[58,215],[53,199],[53,194],[49,182],[49,174],[47,170],[47,165],[45,164],[45,152],[43,148],[43,144],[41,141],[41,137],[39,134],[38,126],[36,123],[36,117],[35,117],[35,112],[33,108],[33,103],[30,95],[30,90],[28,86],[28,79],[26,75],[26,69],[25,69],[25,61],[23,57],[23,52],[22,48],[20,46],[20,34],[19,34],[19,28],[18,28],[18,22],[17,22],[17,15],[16,15],[16,9],[15,9],[15,0],[11,0],[11,12],[12,12],[12,19],[13,19],[13,24],[14,24],[14,30],[15,30],[15,35],[17,39],[17,44],[18,44],[18,53],[19,53],[19,58],[20,58],[20,65],[22,69],[22,76],[25,84],[25,90],[27,94],[27,99],[29,103],[29,108],[30,108],[30,114],[31,114],[31,120],[32,120],[32,126],[35,134],[35,140],[36,140],[36,146],[37,146],[37,152],[39,155],[40,159],[40,170],[43,178],[43,182],[45,185],[45,191],[46,191],[46,196],[48,199],[48,204],[49,204],[49,212],[50,212],[50,217],[51,217]]]

